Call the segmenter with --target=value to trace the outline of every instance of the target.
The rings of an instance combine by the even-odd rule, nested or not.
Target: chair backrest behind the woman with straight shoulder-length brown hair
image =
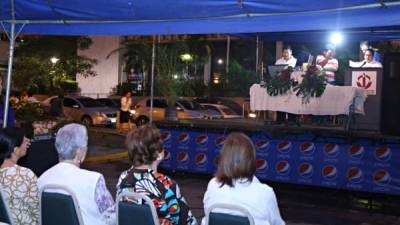
[[[212,212],[214,209],[226,209],[236,211],[244,216],[231,215],[227,213]],[[206,225],[254,225],[253,216],[250,212],[239,205],[218,203],[212,205],[206,212]]]

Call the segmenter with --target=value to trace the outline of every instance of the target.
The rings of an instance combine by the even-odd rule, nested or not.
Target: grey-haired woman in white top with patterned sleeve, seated
[[[86,225],[115,224],[114,200],[103,175],[80,168],[87,152],[86,127],[79,124],[62,127],[57,132],[55,145],[60,162],[39,177],[39,188],[56,184],[72,190]]]

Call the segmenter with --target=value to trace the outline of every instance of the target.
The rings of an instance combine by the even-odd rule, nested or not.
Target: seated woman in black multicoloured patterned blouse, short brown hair
[[[157,172],[164,158],[160,131],[150,125],[142,126],[128,133],[125,143],[132,167],[119,177],[117,194],[133,190],[148,195],[156,207],[160,225],[196,224],[178,185]]]

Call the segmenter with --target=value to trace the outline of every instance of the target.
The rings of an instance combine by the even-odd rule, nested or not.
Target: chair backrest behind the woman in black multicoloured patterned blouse
[[[124,199],[141,201],[135,204]],[[153,201],[142,193],[123,192],[117,196],[117,225],[159,225]]]

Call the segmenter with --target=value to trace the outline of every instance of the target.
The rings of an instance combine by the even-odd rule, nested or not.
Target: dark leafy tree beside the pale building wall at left
[[[91,43],[87,37],[24,37],[15,51],[14,86],[20,90],[54,94],[74,83],[77,74],[95,76],[92,66],[96,60],[77,55],[78,49],[87,49]],[[59,60],[52,63],[52,57]]]

